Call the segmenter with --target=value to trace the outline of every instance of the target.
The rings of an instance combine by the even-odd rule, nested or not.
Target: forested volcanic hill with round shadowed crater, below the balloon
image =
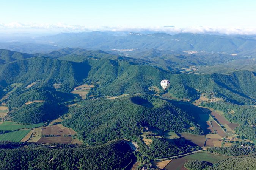
[[[137,137],[143,126],[203,134],[203,128],[197,123],[198,115],[169,101],[143,94],[113,100],[85,100],[79,106],[69,107],[68,114],[71,117],[65,119],[63,125],[77,131],[79,139],[88,144]]]

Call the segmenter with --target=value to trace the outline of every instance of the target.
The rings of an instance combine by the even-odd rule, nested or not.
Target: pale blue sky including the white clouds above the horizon
[[[0,32],[149,30],[256,34],[255,0],[0,0],[0,2]]]

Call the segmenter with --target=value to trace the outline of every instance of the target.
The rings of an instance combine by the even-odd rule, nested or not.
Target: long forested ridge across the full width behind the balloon
[[[175,92],[176,96],[186,93],[188,99],[195,100],[201,92],[214,92],[215,96],[228,102],[255,104],[255,74],[246,70],[229,75],[183,74],[118,59],[88,58],[77,63],[46,57],[33,57],[0,65],[2,84],[22,83],[25,87],[39,80],[36,86],[52,87],[54,83],[61,83],[58,90],[67,92],[77,85],[98,82],[90,92],[97,96],[149,93],[148,88],[151,86],[162,89],[159,84],[162,79],[170,80],[169,90],[171,93]],[[177,87],[182,87],[178,88],[178,93],[173,90]]]

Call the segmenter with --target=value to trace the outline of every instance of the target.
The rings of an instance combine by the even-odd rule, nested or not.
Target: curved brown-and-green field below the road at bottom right
[[[210,153],[194,153],[191,155],[184,156],[182,158],[177,158],[171,160],[171,162],[166,165],[166,170],[187,170],[183,165],[185,162],[192,161],[192,160],[198,160],[198,161],[207,161],[210,163],[217,163],[220,160],[231,158],[229,156],[223,156],[223,155],[215,155]]]

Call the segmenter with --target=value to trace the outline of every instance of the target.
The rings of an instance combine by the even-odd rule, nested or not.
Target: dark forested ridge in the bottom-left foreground
[[[113,141],[97,147],[49,147],[30,144],[0,144],[0,169],[15,170],[120,170],[134,159],[130,146],[124,141]]]

